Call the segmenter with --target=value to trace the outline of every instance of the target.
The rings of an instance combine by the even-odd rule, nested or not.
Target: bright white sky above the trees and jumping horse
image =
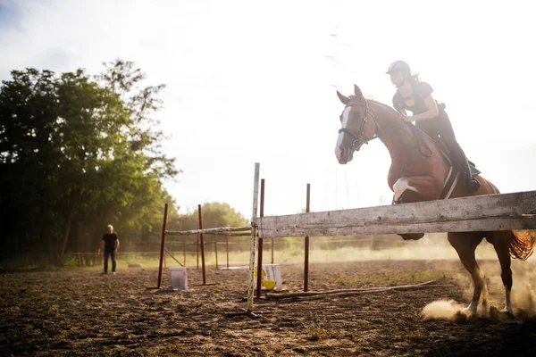
[[[536,189],[536,51],[528,1],[0,0],[0,79],[27,67],[103,69],[120,57],[165,83],[164,152],[184,171],[181,207],[220,201],[251,216],[254,163],[264,212],[377,205],[389,154],[348,165],[334,146],[357,84],[390,104],[385,71],[403,59],[445,102],[456,137],[502,192]],[[336,35],[336,36],[334,36]]]

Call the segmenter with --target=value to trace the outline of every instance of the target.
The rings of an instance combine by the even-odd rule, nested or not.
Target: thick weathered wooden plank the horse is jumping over
[[[536,191],[256,218],[259,237],[468,232],[536,228]]]

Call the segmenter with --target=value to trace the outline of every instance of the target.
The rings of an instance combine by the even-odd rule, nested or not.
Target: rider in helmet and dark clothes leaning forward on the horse
[[[456,168],[462,172],[462,182],[467,193],[473,193],[480,187],[480,182],[471,176],[469,163],[464,151],[457,143],[452,124],[445,112],[445,104],[438,104],[431,93],[431,86],[419,80],[418,75],[411,74],[409,64],[404,61],[391,63],[387,74],[392,84],[397,87],[393,95],[393,106],[405,116],[406,121],[415,121],[415,126],[430,137],[441,139],[447,146]],[[407,116],[406,110],[413,112]]]

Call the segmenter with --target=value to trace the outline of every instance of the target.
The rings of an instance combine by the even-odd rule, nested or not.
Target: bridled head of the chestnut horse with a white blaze
[[[337,92],[340,102],[345,105],[340,114],[341,128],[335,146],[335,155],[339,163],[351,162],[354,152],[367,144],[376,134],[375,120],[371,116],[368,103],[361,89],[354,85],[354,95],[345,96]],[[367,116],[369,118],[367,118]]]

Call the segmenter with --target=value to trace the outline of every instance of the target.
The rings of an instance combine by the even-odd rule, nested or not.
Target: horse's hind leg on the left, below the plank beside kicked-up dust
[[[475,313],[482,291],[486,292],[484,273],[474,257],[474,250],[482,242],[482,236],[476,232],[451,232],[448,233],[448,242],[456,249],[460,261],[473,277],[473,300],[465,310]]]

